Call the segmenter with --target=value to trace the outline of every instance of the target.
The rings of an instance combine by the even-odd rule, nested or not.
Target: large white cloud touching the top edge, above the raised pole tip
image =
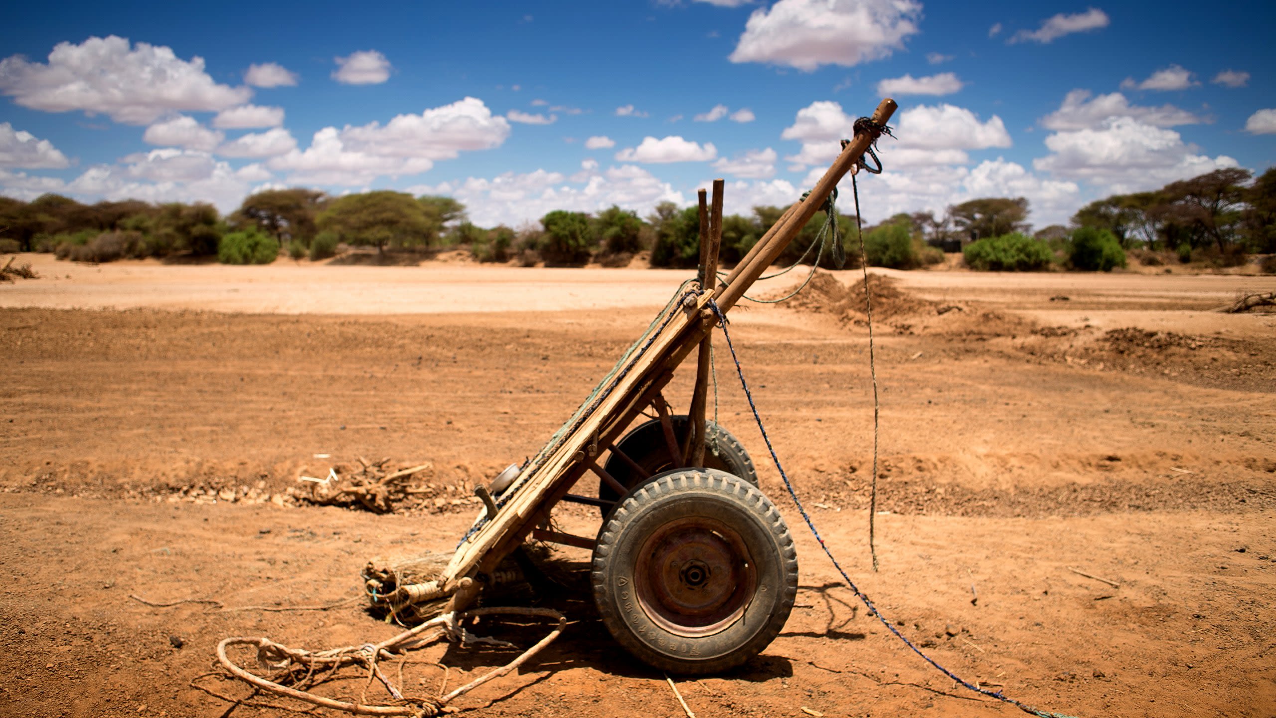
[[[780,0],[749,15],[730,60],[808,72],[857,65],[903,49],[920,18],[915,0]]]

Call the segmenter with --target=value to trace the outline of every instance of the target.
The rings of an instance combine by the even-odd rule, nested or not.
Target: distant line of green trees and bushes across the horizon
[[[722,262],[738,262],[782,215],[781,207],[754,207],[749,216],[723,217]],[[1156,192],[1113,195],[1078,211],[1072,227],[1051,225],[1031,236],[1027,216],[1022,197],[972,199],[942,216],[901,213],[865,227],[864,245],[870,264],[897,268],[942,262],[940,249],[963,250],[968,264],[989,270],[1110,270],[1124,266],[1131,249],[1235,264],[1248,253],[1276,252],[1276,169],[1253,181],[1248,170],[1217,170]],[[265,263],[281,252],[324,259],[339,245],[375,247],[379,254],[468,249],[481,262],[553,266],[621,266],[648,252],[652,266],[692,267],[699,254],[699,217],[695,207],[664,202],[646,217],[616,206],[597,213],[556,210],[540,226],[514,230],[472,224],[452,197],[393,190],[329,197],[272,189],[249,195],[225,217],[203,203],[0,197],[0,252],[52,252],[91,262],[189,256]],[[859,248],[852,215],[835,222],[820,211],[778,262],[831,267],[845,254],[847,266],[857,266]]]

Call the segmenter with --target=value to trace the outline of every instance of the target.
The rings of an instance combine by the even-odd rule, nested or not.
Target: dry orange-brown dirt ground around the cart
[[[0,286],[0,715],[291,714],[191,681],[226,636],[392,635],[357,600],[364,563],[453,547],[472,485],[533,454],[686,276],[24,259],[42,277]],[[1276,280],[879,275],[879,572],[857,275],[741,305],[731,325],[781,460],[859,586],[939,663],[1040,708],[1276,715],[1276,314],[1210,310]],[[1020,714],[954,687],[838,584],[725,351],[717,369],[720,422],[789,521],[801,589],[762,655],[678,680],[690,709]],[[688,388],[675,381],[675,406]],[[431,462],[429,492],[389,515],[288,493],[360,456]],[[597,526],[583,508],[561,520]],[[683,715],[586,595],[550,603],[570,618],[563,638],[459,714]],[[457,686],[512,653],[424,655]],[[412,664],[406,682],[430,691],[440,673]]]

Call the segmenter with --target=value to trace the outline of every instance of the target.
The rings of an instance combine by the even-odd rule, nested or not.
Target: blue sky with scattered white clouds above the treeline
[[[1036,226],[1276,162],[1271,3],[84,4],[6,10],[0,194],[268,187],[555,208],[787,204],[883,95],[870,221],[988,195]]]

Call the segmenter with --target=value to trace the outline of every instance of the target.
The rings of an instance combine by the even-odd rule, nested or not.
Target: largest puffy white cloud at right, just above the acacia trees
[[[1032,161],[1037,170],[1116,193],[1156,189],[1236,166],[1226,155],[1199,155],[1179,133],[1134,118],[1113,118],[1094,129],[1057,132],[1045,139],[1045,146],[1051,153]]]

